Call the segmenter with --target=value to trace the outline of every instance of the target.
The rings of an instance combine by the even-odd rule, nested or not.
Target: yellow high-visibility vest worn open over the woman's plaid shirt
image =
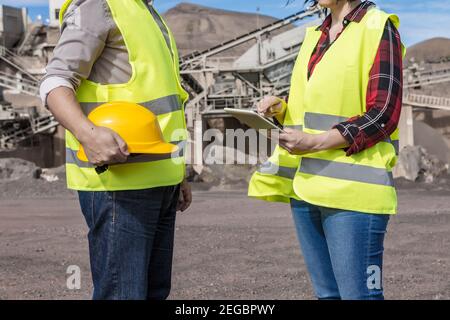
[[[287,126],[318,134],[365,113],[369,74],[388,19],[399,27],[397,16],[375,8],[361,22],[352,22],[309,80],[308,62],[321,31],[308,28],[292,74]],[[344,150],[292,156],[277,147],[253,175],[249,196],[280,202],[293,198],[329,208],[395,214],[392,169],[397,161],[398,137],[396,130],[385,141],[350,157]]]

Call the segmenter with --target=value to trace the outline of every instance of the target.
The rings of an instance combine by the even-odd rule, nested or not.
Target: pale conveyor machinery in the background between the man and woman
[[[193,126],[194,120],[205,117],[226,117],[224,108],[247,109],[264,95],[287,94],[305,30],[317,23],[321,12],[317,7],[307,8],[205,51],[182,57],[181,76],[191,94],[186,107],[189,126]],[[306,24],[292,28],[304,20]],[[224,56],[228,50],[241,45],[252,46],[240,57]]]

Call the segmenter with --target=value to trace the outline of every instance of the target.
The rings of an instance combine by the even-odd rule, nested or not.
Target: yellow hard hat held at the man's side
[[[130,153],[170,154],[178,147],[164,141],[156,116],[147,108],[131,102],[110,102],[95,108],[89,120],[96,126],[116,132],[128,145]],[[77,153],[87,162],[83,146]]]

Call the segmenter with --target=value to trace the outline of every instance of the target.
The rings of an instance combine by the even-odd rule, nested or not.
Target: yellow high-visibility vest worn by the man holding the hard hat
[[[72,0],[60,12],[64,13]],[[185,176],[183,150],[187,140],[184,104],[188,94],[180,83],[178,52],[169,31],[170,47],[143,1],[107,0],[112,17],[127,47],[133,73],[128,83],[102,85],[83,80],[77,99],[87,115],[106,102],[135,102],[158,117],[165,141],[180,146],[172,155],[140,155],[127,163],[112,165],[98,175],[80,161],[80,143],[66,131],[67,184],[84,191],[137,190],[179,184]],[[162,20],[162,18],[161,18]],[[169,28],[166,26],[167,30]]]

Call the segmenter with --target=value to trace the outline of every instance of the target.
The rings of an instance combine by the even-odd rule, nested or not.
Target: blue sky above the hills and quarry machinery
[[[155,5],[164,12],[182,1],[156,0]],[[302,0],[296,0],[289,6],[284,6],[285,0],[189,0],[189,2],[210,7],[256,12],[272,15],[278,18],[288,16],[301,9]],[[395,12],[402,21],[401,34],[406,45],[412,45],[431,37],[450,38],[450,0],[378,0],[375,1],[382,9]],[[48,18],[47,0],[0,0],[0,4],[25,6],[30,16],[37,15]]]

